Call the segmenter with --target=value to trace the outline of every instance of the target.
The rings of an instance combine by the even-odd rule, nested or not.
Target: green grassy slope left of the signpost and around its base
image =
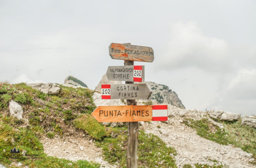
[[[9,166],[21,162],[29,167],[99,167],[98,164],[79,160],[72,162],[47,157],[40,142],[42,136],[73,136],[72,130],[83,130],[102,147],[104,158],[110,164],[125,167],[127,128],[111,128],[98,123],[90,114],[96,108],[92,90],[60,85],[58,95],[41,93],[25,83],[0,85],[0,163]],[[9,116],[9,101],[19,102],[24,110],[23,120]],[[70,132],[71,130],[71,132]],[[139,167],[176,167],[173,148],[154,135],[139,134]],[[115,147],[114,147],[115,146]],[[157,146],[157,148],[156,148]],[[22,154],[10,154],[18,148],[21,153],[39,155],[42,159],[28,159]],[[19,159],[12,159],[15,156]],[[118,156],[118,157],[114,157]],[[156,157],[161,156],[161,157]],[[14,167],[14,166],[13,166]]]

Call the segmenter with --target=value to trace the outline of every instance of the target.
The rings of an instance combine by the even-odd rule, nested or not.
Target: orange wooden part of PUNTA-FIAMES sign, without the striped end
[[[152,106],[99,106],[92,116],[100,123],[152,121]]]

